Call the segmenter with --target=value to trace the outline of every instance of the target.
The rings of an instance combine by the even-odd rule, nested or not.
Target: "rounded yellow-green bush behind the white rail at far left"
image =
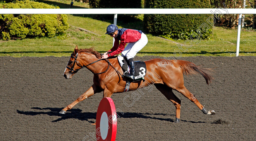
[[[0,4],[0,8],[59,8],[45,3],[16,1]],[[64,14],[0,14],[0,38],[54,37],[68,29]]]

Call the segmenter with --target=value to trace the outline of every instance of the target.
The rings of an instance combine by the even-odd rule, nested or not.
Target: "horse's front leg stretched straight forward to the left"
[[[83,101],[84,99],[101,91],[102,90],[100,88],[98,88],[95,84],[93,84],[84,94],[80,95],[79,98],[77,98],[74,102],[69,104],[66,108],[62,109],[59,113],[66,114],[66,111],[73,108],[78,102]]]

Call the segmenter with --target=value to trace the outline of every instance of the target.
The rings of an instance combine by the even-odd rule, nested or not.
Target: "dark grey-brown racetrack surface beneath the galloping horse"
[[[135,60],[155,58],[136,57]],[[82,141],[92,139],[96,111],[102,98],[95,94],[65,115],[63,107],[76,100],[92,84],[93,74],[82,69],[72,79],[62,76],[69,57],[0,57],[0,140]],[[185,86],[207,110],[180,93],[181,123],[175,107],[154,86],[131,107],[123,98],[132,92],[113,94],[118,113],[117,141],[255,140],[256,57],[183,57],[196,65],[215,68],[210,85],[201,75],[184,76]],[[172,75],[172,74],[170,74]],[[143,88],[142,88],[143,89]],[[128,98],[127,98],[128,99]],[[131,101],[130,101],[131,102]]]

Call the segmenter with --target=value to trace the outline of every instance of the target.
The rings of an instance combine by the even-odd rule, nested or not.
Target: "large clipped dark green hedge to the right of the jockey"
[[[145,8],[211,8],[210,0],[146,0]],[[210,15],[207,14],[145,14],[144,26],[153,35],[172,39],[188,39]],[[207,38],[212,30],[201,32]]]

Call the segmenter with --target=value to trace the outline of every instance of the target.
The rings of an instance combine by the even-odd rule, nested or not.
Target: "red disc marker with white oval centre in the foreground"
[[[116,108],[112,98],[102,98],[96,115],[97,141],[116,140]]]

